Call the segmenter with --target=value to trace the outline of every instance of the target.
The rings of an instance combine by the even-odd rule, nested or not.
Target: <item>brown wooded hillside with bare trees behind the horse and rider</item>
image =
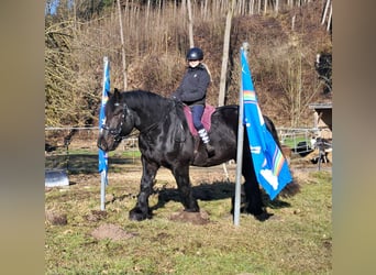
[[[47,0],[45,125],[98,125],[103,56],[110,58],[111,89],[141,88],[169,96],[186,66],[188,8],[195,46],[203,50],[212,75],[208,101],[217,106],[232,2],[225,105],[237,103],[239,51],[248,42],[263,113],[277,127],[311,125],[308,105],[332,96],[322,92],[314,69],[316,55],[332,52],[328,0]]]

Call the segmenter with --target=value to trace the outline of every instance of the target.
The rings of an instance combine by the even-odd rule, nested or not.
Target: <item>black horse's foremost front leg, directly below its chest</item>
[[[159,168],[156,163],[148,162],[144,156],[142,162],[142,178],[140,185],[140,194],[137,196],[136,206],[130,211],[130,220],[142,221],[152,218],[148,208],[148,197],[153,193],[153,184],[155,175]]]

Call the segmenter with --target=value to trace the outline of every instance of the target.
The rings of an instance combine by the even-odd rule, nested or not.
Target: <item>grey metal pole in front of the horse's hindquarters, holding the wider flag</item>
[[[244,42],[241,47],[242,51],[248,50],[248,43]],[[241,64],[242,67],[242,64]],[[234,201],[234,226],[240,224],[240,205],[241,205],[241,182],[242,182],[242,166],[243,166],[243,142],[244,142],[244,107],[243,107],[243,85],[242,85],[242,73],[239,89],[239,119],[237,119],[237,151],[236,151],[236,183],[235,183],[235,201]]]

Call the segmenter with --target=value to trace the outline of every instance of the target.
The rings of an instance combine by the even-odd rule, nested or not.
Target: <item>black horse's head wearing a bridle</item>
[[[101,122],[97,145],[108,152],[115,150],[122,139],[130,134],[134,128],[134,117],[117,88],[110,95],[104,112],[106,120]]]

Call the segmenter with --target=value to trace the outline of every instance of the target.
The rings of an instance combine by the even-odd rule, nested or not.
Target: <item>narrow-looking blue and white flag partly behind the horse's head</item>
[[[109,99],[109,91],[110,91],[110,63],[107,56],[103,58],[104,63],[104,70],[103,70],[103,89],[102,89],[102,102],[99,111],[99,131],[101,131],[102,125],[106,122],[106,113],[104,113],[104,106],[107,100]],[[107,182],[107,172],[108,172],[108,154],[99,148],[98,152],[99,165],[98,169],[99,173],[102,174],[102,178]]]

